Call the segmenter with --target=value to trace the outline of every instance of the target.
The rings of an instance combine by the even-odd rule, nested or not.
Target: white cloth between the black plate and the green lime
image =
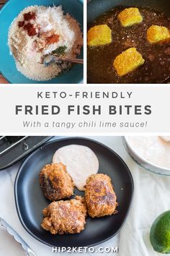
[[[119,256],[160,256],[151,247],[149,233],[153,221],[170,210],[170,176],[151,174],[131,161],[128,166],[135,192],[130,214],[120,233]]]

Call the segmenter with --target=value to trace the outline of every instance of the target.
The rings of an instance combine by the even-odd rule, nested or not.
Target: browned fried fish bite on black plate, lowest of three
[[[41,226],[51,234],[80,233],[86,223],[86,202],[84,197],[51,202],[43,216]]]

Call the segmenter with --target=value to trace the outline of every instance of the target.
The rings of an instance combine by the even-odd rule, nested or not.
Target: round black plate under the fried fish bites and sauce
[[[80,234],[52,235],[41,228],[42,209],[50,203],[39,185],[39,173],[45,164],[51,163],[55,150],[66,145],[85,145],[99,159],[99,173],[108,174],[115,187],[119,213],[104,218],[86,218],[86,227]],[[84,195],[75,189],[76,195]],[[35,239],[53,247],[92,246],[115,236],[122,228],[128,215],[133,197],[133,178],[128,166],[119,155],[94,140],[71,137],[55,140],[43,145],[22,163],[14,185],[15,200],[19,219]]]

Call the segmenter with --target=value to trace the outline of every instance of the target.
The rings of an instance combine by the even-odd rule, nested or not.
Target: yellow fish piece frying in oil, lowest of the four
[[[137,69],[140,65],[143,65],[145,60],[142,55],[136,50],[135,47],[128,48],[128,50],[123,51],[122,54],[118,55],[113,62],[113,67],[115,67],[117,74],[123,76]]]

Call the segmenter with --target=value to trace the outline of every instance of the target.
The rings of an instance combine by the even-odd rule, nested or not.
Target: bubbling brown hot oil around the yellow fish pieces
[[[117,15],[125,7],[117,7],[102,14],[94,25],[107,24],[112,29],[112,43],[106,46],[89,48],[87,51],[87,72],[89,83],[158,83],[170,77],[170,42],[150,44],[146,31],[151,25],[169,27],[170,19],[153,9],[139,8],[143,22],[131,27],[122,27]],[[145,59],[145,64],[135,71],[119,77],[113,68],[117,55],[130,47],[135,47]]]

